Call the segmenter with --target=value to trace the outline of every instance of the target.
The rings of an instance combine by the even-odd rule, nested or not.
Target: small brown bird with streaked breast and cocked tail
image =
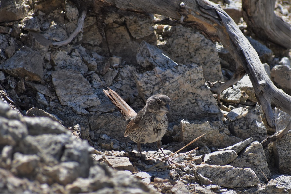
[[[151,96],[143,109],[136,112],[113,90],[103,90],[113,104],[118,108],[125,120],[130,120],[125,129],[124,136],[137,143],[141,154],[141,143],[157,142],[157,147],[162,151],[161,138],[167,131],[171,100],[168,96],[158,94]],[[166,154],[164,154],[166,156]],[[166,156],[167,157],[167,156]],[[141,154],[141,158],[142,154]]]

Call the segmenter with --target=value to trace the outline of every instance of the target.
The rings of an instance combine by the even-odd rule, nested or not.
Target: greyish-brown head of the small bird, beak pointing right
[[[153,95],[146,101],[147,111],[158,115],[165,115],[170,112],[170,103],[171,100],[166,95]]]

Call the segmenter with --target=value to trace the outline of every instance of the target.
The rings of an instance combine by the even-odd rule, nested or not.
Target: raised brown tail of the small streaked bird
[[[136,116],[136,112],[113,90],[103,90],[111,102],[118,108],[125,120],[132,120]]]

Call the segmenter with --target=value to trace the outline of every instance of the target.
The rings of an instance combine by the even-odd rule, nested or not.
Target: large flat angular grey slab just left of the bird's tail
[[[85,108],[101,104],[90,83],[76,70],[54,71],[52,82],[61,104],[72,107],[77,114],[86,115]]]

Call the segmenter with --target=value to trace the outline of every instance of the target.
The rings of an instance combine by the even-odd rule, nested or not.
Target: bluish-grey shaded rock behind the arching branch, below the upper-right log
[[[255,51],[257,51],[262,63],[270,63],[272,61],[273,52],[268,47],[249,36],[246,36],[246,38],[254,47]]]

